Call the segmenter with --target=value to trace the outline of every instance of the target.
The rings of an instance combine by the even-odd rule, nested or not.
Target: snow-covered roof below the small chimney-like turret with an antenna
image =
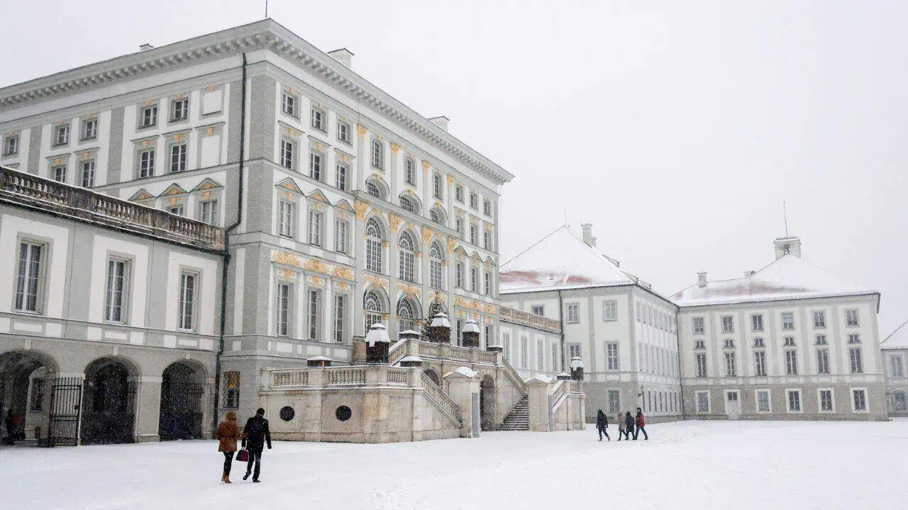
[[[750,276],[707,281],[706,287],[695,283],[671,299],[676,305],[686,307],[876,293],[787,254]]]

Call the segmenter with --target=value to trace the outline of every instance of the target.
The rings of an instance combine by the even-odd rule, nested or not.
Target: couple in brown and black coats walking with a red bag
[[[268,420],[265,419],[265,410],[259,407],[255,411],[255,416],[246,420],[246,426],[242,427],[236,424],[236,413],[229,411],[224,420],[218,424],[218,430],[214,437],[218,440],[218,451],[224,454],[224,470],[221,481],[230,484],[230,469],[233,464],[233,454],[236,453],[237,439],[242,442],[242,449],[246,451],[248,459],[246,460],[246,475],[243,480],[249,478],[252,474],[253,482],[260,482],[259,474],[262,469],[262,450],[265,444],[271,449],[271,430],[268,428]],[[255,472],[252,472],[252,465],[255,465]]]

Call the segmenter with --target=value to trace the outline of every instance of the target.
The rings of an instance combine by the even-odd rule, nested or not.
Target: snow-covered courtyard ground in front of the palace
[[[222,485],[213,441],[0,449],[4,508],[908,508],[908,420],[696,422],[395,445],[275,442]]]

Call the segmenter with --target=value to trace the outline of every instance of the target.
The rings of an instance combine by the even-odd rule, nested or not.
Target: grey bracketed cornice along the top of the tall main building
[[[301,66],[324,82],[330,83],[335,89],[370,106],[431,145],[449,153],[469,169],[491,181],[503,184],[514,178],[511,173],[489,158],[271,19],[2,88],[0,111],[70,93],[95,90],[145,75],[163,73],[189,63],[201,63],[256,50],[269,50]]]

